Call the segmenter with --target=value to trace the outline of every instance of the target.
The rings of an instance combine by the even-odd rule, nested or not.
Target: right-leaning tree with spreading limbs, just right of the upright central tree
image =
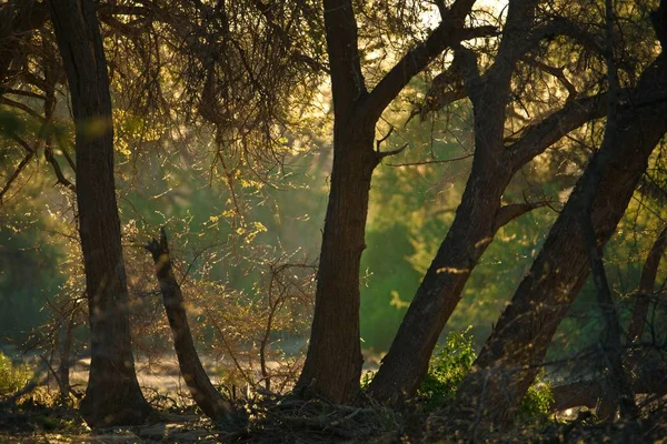
[[[568,133],[605,115],[604,92],[585,95],[581,92],[594,90],[590,83],[585,81],[575,87],[563,71],[549,69],[548,64],[549,58],[558,60],[559,56],[558,48],[551,44],[554,39],[569,40],[575,46],[600,53],[599,47],[594,43],[595,38],[570,19],[573,11],[566,10],[563,16],[556,17],[550,13],[541,16],[544,11],[538,4],[540,2],[536,0],[509,2],[497,54],[484,73],[478,67],[477,53],[462,47],[457,48],[451,67],[442,73],[445,79],[459,79],[465,84],[464,94],[452,94],[450,90],[449,97],[459,100],[467,95],[472,103],[472,169],[447,236],[371,383],[371,393],[382,401],[400,403],[416,393],[438,337],[496,232],[527,211],[547,203],[504,204],[504,193],[512,176]],[[525,75],[525,65],[538,67],[538,72],[546,70],[555,75],[563,83],[563,93],[568,94],[568,99],[561,105],[554,100],[550,102],[554,104],[541,112],[541,115],[546,114],[544,118],[520,125],[520,119],[509,112],[510,107],[521,107],[524,101],[530,103],[535,99],[521,97],[517,99],[518,103],[512,103],[512,98],[520,94],[518,84],[529,90],[530,80],[519,83]],[[529,72],[526,77],[531,79],[532,75],[536,74]],[[456,85],[456,82],[450,83]],[[445,100],[445,103],[448,100],[451,99]],[[520,130],[506,137],[507,128],[517,124]]]

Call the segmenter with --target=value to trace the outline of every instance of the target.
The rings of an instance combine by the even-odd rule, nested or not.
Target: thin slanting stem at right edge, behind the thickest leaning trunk
[[[658,265],[660,259],[667,249],[667,226],[663,229],[660,235],[651,245],[644,268],[641,269],[641,278],[639,279],[639,289],[633,307],[633,316],[630,326],[628,327],[628,339],[630,341],[641,340],[644,327],[648,316],[648,307],[650,305],[650,294],[654,292],[656,275],[658,274]]]

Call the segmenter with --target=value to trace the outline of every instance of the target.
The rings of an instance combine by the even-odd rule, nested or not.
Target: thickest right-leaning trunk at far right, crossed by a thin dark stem
[[[600,149],[610,158],[591,213],[600,245],[614,233],[650,153],[667,130],[665,94],[667,61],[660,56],[644,72],[633,94],[634,105],[619,113],[618,132],[606,138]],[[587,174],[588,170],[500,316],[472,371],[461,383],[461,408],[480,413],[484,421],[498,424],[511,421],[539,371],[556,329],[588,278],[590,268],[578,214],[586,192],[581,184],[588,181]]]

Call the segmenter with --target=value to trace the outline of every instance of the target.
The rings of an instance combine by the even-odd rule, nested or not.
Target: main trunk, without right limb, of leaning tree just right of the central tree
[[[499,62],[484,75],[471,51],[459,48],[455,53],[475,113],[472,171],[447,236],[370,384],[371,395],[380,402],[400,404],[417,392],[470,273],[498,229],[520,214],[507,216],[501,206],[506,186],[522,165],[505,147],[504,132],[510,79],[522,56],[536,3],[535,0],[510,2],[506,32],[498,49]]]

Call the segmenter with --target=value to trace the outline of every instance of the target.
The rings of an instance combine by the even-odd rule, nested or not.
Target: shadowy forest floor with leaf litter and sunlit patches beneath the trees
[[[255,394],[237,401],[247,412],[246,425],[217,426],[188,406],[176,360],[158,362],[138,362],[140,384],[151,387],[147,398],[163,412],[153,423],[91,431],[74,408],[53,403],[54,387],[38,387],[18,405],[0,407],[0,443],[667,443],[667,408],[630,423],[600,423],[583,411],[568,421],[550,418],[501,433],[454,422],[445,411],[426,413],[419,405],[398,413],[369,400],[340,406]],[[72,384],[84,386],[86,373],[83,360],[72,371]]]

